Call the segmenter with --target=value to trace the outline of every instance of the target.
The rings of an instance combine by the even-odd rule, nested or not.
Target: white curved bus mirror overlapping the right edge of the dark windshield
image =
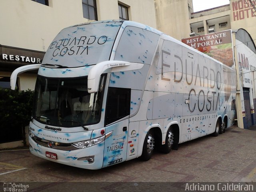
[[[144,64],[130,63],[125,61],[104,61],[96,64],[88,74],[88,93],[96,93],[100,82],[101,74],[110,69],[108,72],[120,72],[141,69]]]

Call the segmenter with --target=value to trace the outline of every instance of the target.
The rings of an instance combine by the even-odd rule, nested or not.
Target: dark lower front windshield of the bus
[[[106,76],[102,75],[98,92],[89,94],[87,76],[38,76],[32,117],[43,124],[62,127],[78,127],[100,122],[105,79]]]

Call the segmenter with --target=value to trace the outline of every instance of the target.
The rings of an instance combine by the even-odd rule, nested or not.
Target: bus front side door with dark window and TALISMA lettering
[[[105,113],[106,134],[113,132],[105,140],[103,167],[126,160],[130,102],[131,89],[108,88]],[[117,122],[118,120],[120,122]]]

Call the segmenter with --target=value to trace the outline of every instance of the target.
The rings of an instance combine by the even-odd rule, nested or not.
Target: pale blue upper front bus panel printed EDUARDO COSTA
[[[109,60],[115,35],[121,24],[73,26],[62,30],[50,44],[47,64],[69,67],[94,65]],[[107,29],[107,30],[106,30]]]

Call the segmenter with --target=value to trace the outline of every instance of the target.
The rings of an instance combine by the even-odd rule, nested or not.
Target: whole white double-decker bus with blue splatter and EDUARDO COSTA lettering
[[[234,69],[131,21],[64,28],[38,68],[29,128],[32,154],[100,169],[149,160],[233,124]]]

